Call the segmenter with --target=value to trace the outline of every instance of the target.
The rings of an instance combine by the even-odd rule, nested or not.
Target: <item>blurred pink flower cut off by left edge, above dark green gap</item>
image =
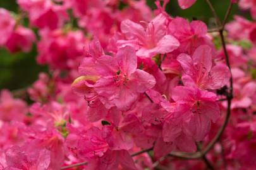
[[[4,45],[15,27],[15,20],[4,8],[0,8],[0,46]]]

